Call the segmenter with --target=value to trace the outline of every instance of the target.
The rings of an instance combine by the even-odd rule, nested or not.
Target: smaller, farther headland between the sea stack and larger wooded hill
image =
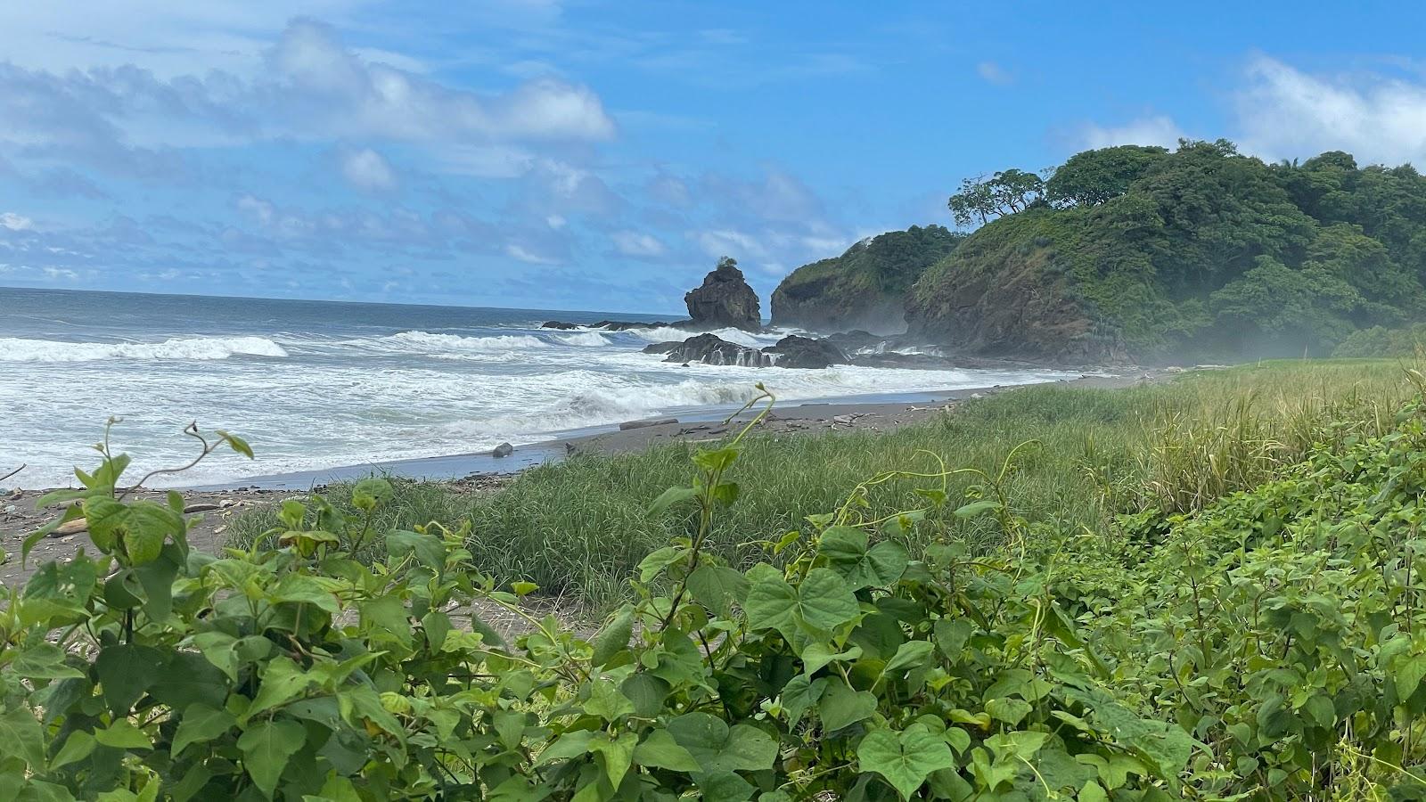
[[[906,331],[907,290],[963,238],[940,225],[913,225],[799,267],[773,293],[773,325],[900,334]]]

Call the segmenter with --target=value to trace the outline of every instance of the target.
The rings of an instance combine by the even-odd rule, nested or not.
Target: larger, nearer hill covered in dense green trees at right
[[[1058,361],[1328,354],[1426,320],[1426,178],[1346,153],[1266,164],[1232,143],[1077,154],[951,197],[980,228],[907,295],[914,334]]]

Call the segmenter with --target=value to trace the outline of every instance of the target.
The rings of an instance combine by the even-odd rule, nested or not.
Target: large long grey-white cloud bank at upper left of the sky
[[[505,93],[455,88],[364,57],[312,20],[289,23],[247,74],[168,78],[131,64],[50,71],[0,61],[0,146],[154,181],[191,178],[178,150],[191,147],[404,141],[441,160],[451,151],[458,164],[503,147],[503,164],[485,170],[518,174],[533,143],[615,136],[588,87],[545,77]]]

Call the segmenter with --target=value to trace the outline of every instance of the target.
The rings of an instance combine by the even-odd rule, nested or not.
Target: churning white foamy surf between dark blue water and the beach
[[[110,415],[116,448],[135,472],[191,460],[180,431],[197,420],[247,437],[257,461],[215,454],[175,484],[225,482],[384,460],[468,454],[509,441],[657,414],[736,408],[764,382],[780,402],[923,392],[1055,378],[1052,371],[752,368],[666,364],[646,341],[684,340],[679,328],[548,331],[481,327],[399,334],[394,328],[294,325],[288,334],[153,342],[67,342],[63,335],[0,338],[0,469],[29,464],[7,487],[73,482],[93,467],[84,447]],[[461,333],[452,333],[461,331]],[[107,334],[107,333],[106,333]],[[93,340],[104,340],[98,334]],[[783,333],[714,331],[766,347]],[[288,358],[274,358],[287,355]],[[234,358],[228,358],[234,357]],[[270,358],[260,358],[270,357]],[[83,381],[54,381],[46,362],[88,360]],[[97,361],[108,360],[108,361]],[[218,360],[184,362],[183,360]],[[29,364],[20,364],[29,362]]]

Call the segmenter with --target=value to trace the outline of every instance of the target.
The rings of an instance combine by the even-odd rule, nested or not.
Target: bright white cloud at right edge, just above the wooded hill
[[[1426,161],[1426,83],[1310,76],[1259,56],[1238,93],[1239,144],[1265,158],[1346,150],[1365,161]]]

